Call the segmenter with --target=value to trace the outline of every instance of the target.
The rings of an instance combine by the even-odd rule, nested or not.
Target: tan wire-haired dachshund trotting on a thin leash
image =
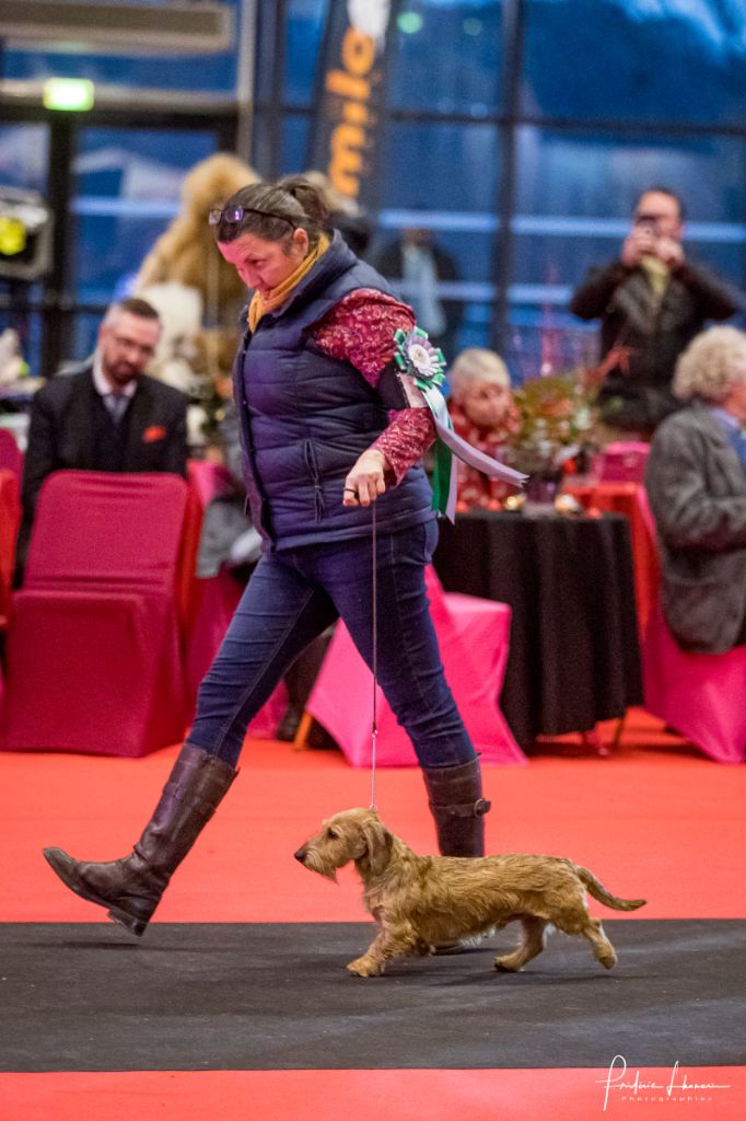
[[[329,880],[354,861],[363,900],[380,927],[366,953],[347,965],[360,978],[377,976],[394,957],[429,954],[515,920],[523,938],[512,954],[495,957],[496,969],[523,969],[544,948],[551,925],[586,937],[596,961],[610,970],[614,946],[600,919],[588,914],[586,891],[615,910],[645,904],[610,895],[587,868],[558,856],[418,856],[374,809],[336,814],[295,856]]]

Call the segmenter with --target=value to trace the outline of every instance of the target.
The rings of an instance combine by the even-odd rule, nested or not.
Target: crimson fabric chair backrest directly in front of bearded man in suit
[[[39,495],[24,589],[174,589],[187,501],[178,475],[55,472]]]

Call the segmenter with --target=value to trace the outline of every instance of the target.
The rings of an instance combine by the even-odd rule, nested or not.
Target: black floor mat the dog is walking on
[[[634,1067],[744,1063],[746,921],[607,920],[607,973],[517,930],[361,981],[367,924],[0,924],[0,1069]]]

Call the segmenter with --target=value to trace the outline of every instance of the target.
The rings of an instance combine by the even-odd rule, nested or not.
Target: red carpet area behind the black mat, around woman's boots
[[[617,895],[644,896],[645,918],[744,918],[746,768],[712,763],[670,736],[659,735],[656,744],[656,733],[654,722],[638,716],[612,757],[588,754],[566,738],[530,767],[485,768],[493,803],[487,846],[572,856]],[[99,908],[60,889],[41,847],[60,845],[90,860],[123,855],[175,754],[174,748],[139,760],[0,756],[0,920],[101,921]],[[246,743],[239,778],[175,877],[158,919],[363,919],[352,871],[335,887],[300,868],[292,853],[323,817],[367,805],[370,796],[369,772],[352,770],[337,752]],[[376,804],[408,844],[433,851],[417,769],[379,771]]]

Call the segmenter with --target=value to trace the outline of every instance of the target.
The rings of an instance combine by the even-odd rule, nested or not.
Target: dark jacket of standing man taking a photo
[[[609,424],[652,429],[679,405],[671,393],[677,360],[708,319],[737,311],[728,287],[701,265],[686,261],[658,297],[643,268],[615,261],[591,269],[572,295],[570,311],[600,319],[602,360],[622,348],[599,393]]]

